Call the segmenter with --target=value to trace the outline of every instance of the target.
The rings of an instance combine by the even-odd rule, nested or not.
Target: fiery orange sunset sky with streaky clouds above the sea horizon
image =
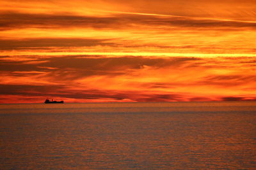
[[[256,100],[255,0],[0,0],[0,103]]]

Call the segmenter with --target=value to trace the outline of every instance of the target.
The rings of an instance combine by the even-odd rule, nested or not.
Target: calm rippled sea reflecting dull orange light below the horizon
[[[0,169],[256,169],[256,102],[0,104]]]

